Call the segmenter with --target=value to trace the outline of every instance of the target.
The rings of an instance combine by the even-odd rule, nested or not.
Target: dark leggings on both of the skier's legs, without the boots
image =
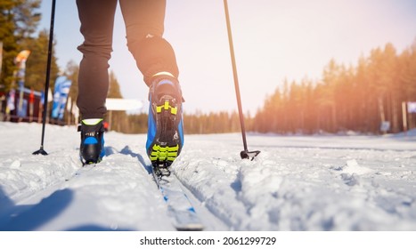
[[[81,118],[102,118],[109,91],[108,68],[112,52],[114,14],[119,2],[126,24],[127,46],[133,54],[144,82],[151,76],[179,71],[172,46],[162,38],[166,0],[77,0],[84,43],[79,65],[77,107]]]

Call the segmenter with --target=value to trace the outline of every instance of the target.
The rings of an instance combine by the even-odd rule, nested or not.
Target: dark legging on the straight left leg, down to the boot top
[[[117,0],[77,0],[84,43],[79,65],[77,106],[81,117],[102,118],[109,90],[109,63]]]

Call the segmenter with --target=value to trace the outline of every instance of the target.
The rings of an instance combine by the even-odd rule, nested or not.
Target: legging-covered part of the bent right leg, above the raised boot
[[[163,36],[165,0],[120,0],[126,23],[127,45],[144,82],[151,86],[153,76],[168,72],[175,78],[179,71],[175,52]]]

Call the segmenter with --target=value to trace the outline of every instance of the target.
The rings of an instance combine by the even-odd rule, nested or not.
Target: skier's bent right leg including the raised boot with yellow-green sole
[[[127,44],[150,87],[146,149],[153,165],[170,165],[184,144],[182,91],[175,52],[163,35],[165,0],[120,0]]]

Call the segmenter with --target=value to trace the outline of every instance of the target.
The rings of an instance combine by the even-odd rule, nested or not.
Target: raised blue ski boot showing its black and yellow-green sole
[[[150,87],[149,100],[147,154],[154,167],[168,167],[184,145],[183,98],[175,77],[155,79]]]

